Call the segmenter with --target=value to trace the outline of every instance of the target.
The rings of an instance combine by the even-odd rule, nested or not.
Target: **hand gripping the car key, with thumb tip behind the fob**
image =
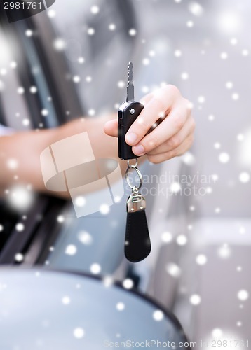
[[[191,103],[174,85],[147,94],[141,102],[144,109],[126,134],[126,143],[133,146],[133,153],[147,155],[153,163],[185,153],[194,141]],[[118,137],[118,121],[109,120],[104,132]]]

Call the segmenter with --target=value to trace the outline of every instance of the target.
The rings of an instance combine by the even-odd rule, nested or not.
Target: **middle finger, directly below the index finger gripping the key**
[[[182,130],[189,116],[190,110],[187,108],[186,103],[179,103],[177,107],[174,107],[170,111],[160,125],[147,134],[139,144],[133,146],[133,153],[135,153],[135,155],[143,155],[151,152],[154,148],[160,146]]]

